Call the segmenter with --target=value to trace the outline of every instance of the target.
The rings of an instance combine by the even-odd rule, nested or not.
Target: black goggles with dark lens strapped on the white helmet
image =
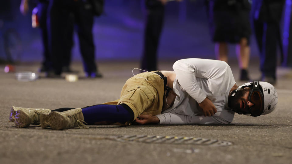
[[[252,116],[260,116],[264,110],[264,96],[260,89],[259,81],[254,81],[252,83],[252,90],[249,93],[249,101],[252,105],[249,108],[249,112]]]

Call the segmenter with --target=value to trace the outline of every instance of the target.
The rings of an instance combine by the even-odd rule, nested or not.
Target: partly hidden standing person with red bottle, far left
[[[41,33],[41,39],[43,43],[43,62],[40,68],[40,72],[47,72],[52,69],[52,61],[51,55],[49,52],[49,45],[48,45],[48,31],[47,31],[47,9],[48,9],[49,1],[48,0],[37,0],[37,6],[33,9],[33,15],[35,15],[36,23],[34,28],[39,27]],[[23,15],[26,15],[29,10],[29,0],[22,0],[20,3],[20,12]],[[68,23],[72,23],[73,18],[70,18],[66,21]],[[64,48],[64,64],[62,65],[62,69],[64,72],[72,72],[70,69],[70,62],[71,62],[71,48],[73,46],[73,28],[67,28],[66,31],[66,48]]]

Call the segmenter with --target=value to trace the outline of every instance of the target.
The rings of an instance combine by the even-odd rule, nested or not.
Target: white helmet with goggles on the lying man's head
[[[231,94],[234,96],[236,92],[244,87],[250,87],[251,91],[249,93],[249,101],[254,105],[250,108],[251,116],[260,116],[264,114],[271,113],[275,110],[276,105],[278,104],[278,94],[275,87],[272,84],[269,84],[264,81],[254,81],[248,82],[239,86],[235,92]]]

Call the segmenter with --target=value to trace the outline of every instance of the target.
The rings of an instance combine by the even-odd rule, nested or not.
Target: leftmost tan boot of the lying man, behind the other
[[[50,109],[44,108],[22,108],[12,106],[9,120],[15,120],[15,126],[17,128],[25,128],[33,125],[40,124],[40,113],[50,113]],[[15,115],[13,116],[13,114]]]

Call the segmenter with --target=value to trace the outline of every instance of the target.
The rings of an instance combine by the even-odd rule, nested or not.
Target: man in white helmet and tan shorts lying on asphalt
[[[275,87],[266,82],[237,86],[223,61],[182,59],[174,71],[144,72],[128,79],[120,99],[85,108],[11,108],[16,127],[40,124],[55,130],[89,125],[229,124],[235,112],[250,116],[276,108]]]

